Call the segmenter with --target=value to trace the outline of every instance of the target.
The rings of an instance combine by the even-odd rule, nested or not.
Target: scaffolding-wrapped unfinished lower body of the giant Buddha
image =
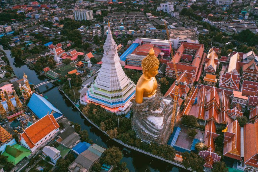
[[[172,104],[171,100],[160,96],[159,86],[153,97],[144,97],[140,104],[133,102],[132,128],[141,140],[167,144],[171,134]]]

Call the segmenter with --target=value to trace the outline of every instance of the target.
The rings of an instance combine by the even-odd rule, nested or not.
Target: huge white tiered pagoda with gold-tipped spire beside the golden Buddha
[[[118,115],[129,112],[136,85],[126,76],[117,53],[110,26],[103,46],[102,65],[94,83],[86,92],[87,100],[100,104]]]

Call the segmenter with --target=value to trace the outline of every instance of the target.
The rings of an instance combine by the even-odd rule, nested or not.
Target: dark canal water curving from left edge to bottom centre
[[[3,50],[2,45],[0,45],[0,49]],[[39,76],[37,71],[29,69],[27,65],[19,58],[12,58],[10,50],[3,51],[6,53],[10,65],[18,79],[21,79],[23,77],[23,73],[25,73],[28,76],[29,82],[34,85],[50,80],[44,75]],[[110,146],[120,147],[124,155],[122,162],[127,163],[127,168],[130,171],[186,171],[185,169],[175,167],[169,163],[165,163],[142,153],[138,153],[137,151],[127,149],[114,140],[109,139],[109,137],[85,120],[80,112],[73,106],[73,104],[64,95],[62,95],[61,92],[58,91],[57,87],[52,85],[52,83],[48,83],[48,89],[44,85],[40,86],[39,89],[40,92],[43,93],[43,96],[47,96],[48,101],[50,101],[58,110],[60,110],[70,121],[81,124],[81,128],[88,131],[89,138],[91,138],[94,143],[105,148]]]

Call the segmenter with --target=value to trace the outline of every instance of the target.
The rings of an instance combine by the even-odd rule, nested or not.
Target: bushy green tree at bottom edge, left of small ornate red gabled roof
[[[199,155],[193,152],[184,152],[182,156],[183,165],[186,169],[191,168],[192,171],[203,172],[204,160]]]

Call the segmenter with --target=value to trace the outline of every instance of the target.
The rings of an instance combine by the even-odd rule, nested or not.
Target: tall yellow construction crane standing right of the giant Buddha
[[[175,123],[175,116],[176,116],[176,112],[177,112],[177,99],[178,99],[178,94],[179,94],[179,87],[178,87],[178,74],[177,74],[177,68],[175,65],[175,59],[174,59],[174,55],[173,55],[173,49],[171,46],[171,42],[170,42],[170,34],[169,34],[169,29],[167,28],[167,24],[166,21],[164,21],[165,24],[165,28],[166,28],[166,32],[167,32],[167,40],[169,42],[169,48],[170,48],[170,53],[171,53],[171,60],[172,63],[174,65],[174,69],[175,69],[175,76],[176,76],[176,80],[175,80],[175,93],[174,93],[174,104],[173,104],[173,111],[172,111],[172,116],[171,116],[171,124],[170,124],[170,130],[171,133],[173,132],[173,128],[174,128],[174,123]]]

